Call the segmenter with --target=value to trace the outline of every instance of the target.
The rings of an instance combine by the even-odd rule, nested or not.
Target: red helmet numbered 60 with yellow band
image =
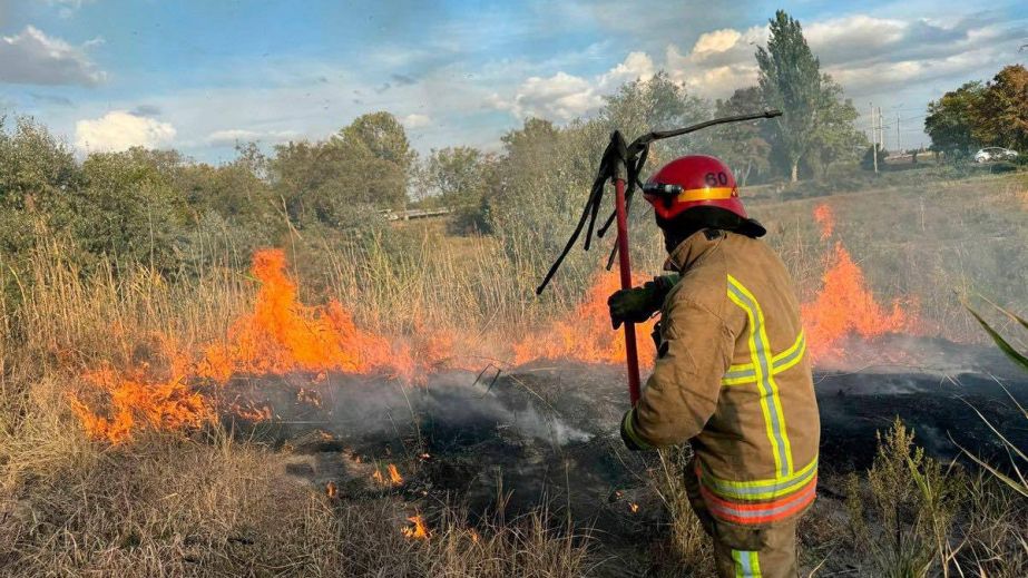
[[[732,169],[706,155],[689,155],[664,165],[643,186],[643,196],[665,221],[694,207],[719,207],[750,219]]]

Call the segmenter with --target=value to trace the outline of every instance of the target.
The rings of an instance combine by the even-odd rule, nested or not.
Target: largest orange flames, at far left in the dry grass
[[[388,373],[415,381],[453,356],[453,340],[439,332],[422,331],[422,343],[394,345],[385,337],[361,330],[350,312],[335,300],[310,306],[297,297],[296,283],[285,272],[285,252],[263,249],[254,254],[252,273],[260,282],[253,310],[237,317],[224,341],[198,347],[199,354],[183,351],[174,339],[158,337],[170,379],[155,376],[148,364],[117,372],[109,366],[87,372],[89,392],[71,398],[71,406],[87,433],[119,443],[133,432],[150,425],[180,430],[195,428],[216,417],[215,404],[196,393],[197,381],[226,383],[237,374],[314,373],[314,382],[327,372]],[[98,395],[94,395],[94,392]],[[98,399],[109,400],[104,411]],[[88,400],[88,401],[87,401]],[[321,404],[316,391],[301,390],[297,400]],[[252,421],[272,418],[270,408],[223,408]]]

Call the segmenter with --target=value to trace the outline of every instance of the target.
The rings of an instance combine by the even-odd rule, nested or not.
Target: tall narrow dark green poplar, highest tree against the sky
[[[821,63],[806,45],[799,21],[779,10],[770,22],[767,48],[756,50],[760,87],[764,102],[783,112],[773,120],[771,143],[795,183],[800,159],[813,146],[823,102]]]

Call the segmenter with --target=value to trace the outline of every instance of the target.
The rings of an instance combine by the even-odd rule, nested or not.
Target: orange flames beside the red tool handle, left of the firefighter
[[[515,363],[539,359],[624,363],[625,334],[610,326],[607,307],[607,297],[619,288],[617,273],[601,273],[586,300],[570,315],[515,344]],[[636,349],[639,352],[639,365],[644,368],[653,365],[656,356],[649,337],[655,321],[636,325]]]

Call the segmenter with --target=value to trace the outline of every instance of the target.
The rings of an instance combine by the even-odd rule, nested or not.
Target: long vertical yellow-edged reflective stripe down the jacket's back
[[[771,442],[775,470],[779,476],[792,473],[792,448],[785,428],[785,414],[779,396],[779,385],[772,374],[767,331],[764,312],[756,297],[742,283],[728,275],[728,298],[738,305],[750,320],[750,359],[756,372],[757,389],[761,392],[761,412],[764,414],[764,428]]]

